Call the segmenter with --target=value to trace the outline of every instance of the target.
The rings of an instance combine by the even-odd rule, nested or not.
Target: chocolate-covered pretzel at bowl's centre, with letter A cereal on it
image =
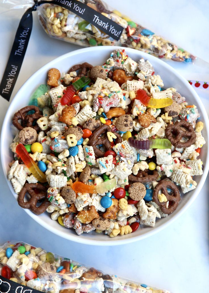
[[[107,132],[113,131],[108,125],[101,125],[92,133],[89,139],[89,145],[93,147],[95,155],[99,158],[102,158],[104,156],[104,152],[100,149],[97,149],[97,145],[103,144],[106,148],[106,151],[111,150],[111,142],[108,139]],[[117,132],[113,133],[117,137],[116,144],[122,142],[122,137],[120,136],[120,134],[118,134]],[[101,135],[103,135],[103,137]]]

